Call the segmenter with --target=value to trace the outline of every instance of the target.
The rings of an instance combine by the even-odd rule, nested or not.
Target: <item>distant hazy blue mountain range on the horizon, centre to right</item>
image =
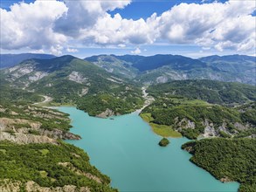
[[[100,55],[85,58],[107,72],[119,74],[143,84],[165,83],[171,80],[212,79],[256,84],[255,57],[231,55],[187,58],[179,55]]]

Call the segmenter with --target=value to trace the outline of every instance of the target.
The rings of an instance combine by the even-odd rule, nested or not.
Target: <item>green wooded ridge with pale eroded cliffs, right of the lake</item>
[[[255,137],[254,103],[250,107],[211,105],[203,100],[167,95],[158,97],[142,111],[150,114],[150,122],[170,126],[190,139],[204,137]]]

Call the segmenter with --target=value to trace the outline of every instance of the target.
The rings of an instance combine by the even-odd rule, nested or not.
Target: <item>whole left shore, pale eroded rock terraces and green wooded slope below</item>
[[[66,113],[0,104],[0,191],[116,191],[82,149],[59,140],[80,139]]]

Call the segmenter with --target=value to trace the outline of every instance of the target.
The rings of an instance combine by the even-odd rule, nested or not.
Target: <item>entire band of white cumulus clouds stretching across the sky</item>
[[[128,1],[35,1],[16,3],[1,11],[1,48],[74,52],[74,44],[199,45],[203,49],[250,51],[255,48],[253,1],[180,3],[157,16],[127,19],[107,11],[123,9]],[[133,54],[139,54],[139,48]]]

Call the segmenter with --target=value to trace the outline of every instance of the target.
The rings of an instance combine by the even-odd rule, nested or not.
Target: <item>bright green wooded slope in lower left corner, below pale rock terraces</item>
[[[107,175],[90,165],[82,149],[62,141],[58,145],[0,141],[0,154],[0,183],[7,180],[6,188],[19,181],[19,189],[24,191],[33,181],[50,189],[68,185],[75,186],[76,191],[116,191],[109,187]]]

